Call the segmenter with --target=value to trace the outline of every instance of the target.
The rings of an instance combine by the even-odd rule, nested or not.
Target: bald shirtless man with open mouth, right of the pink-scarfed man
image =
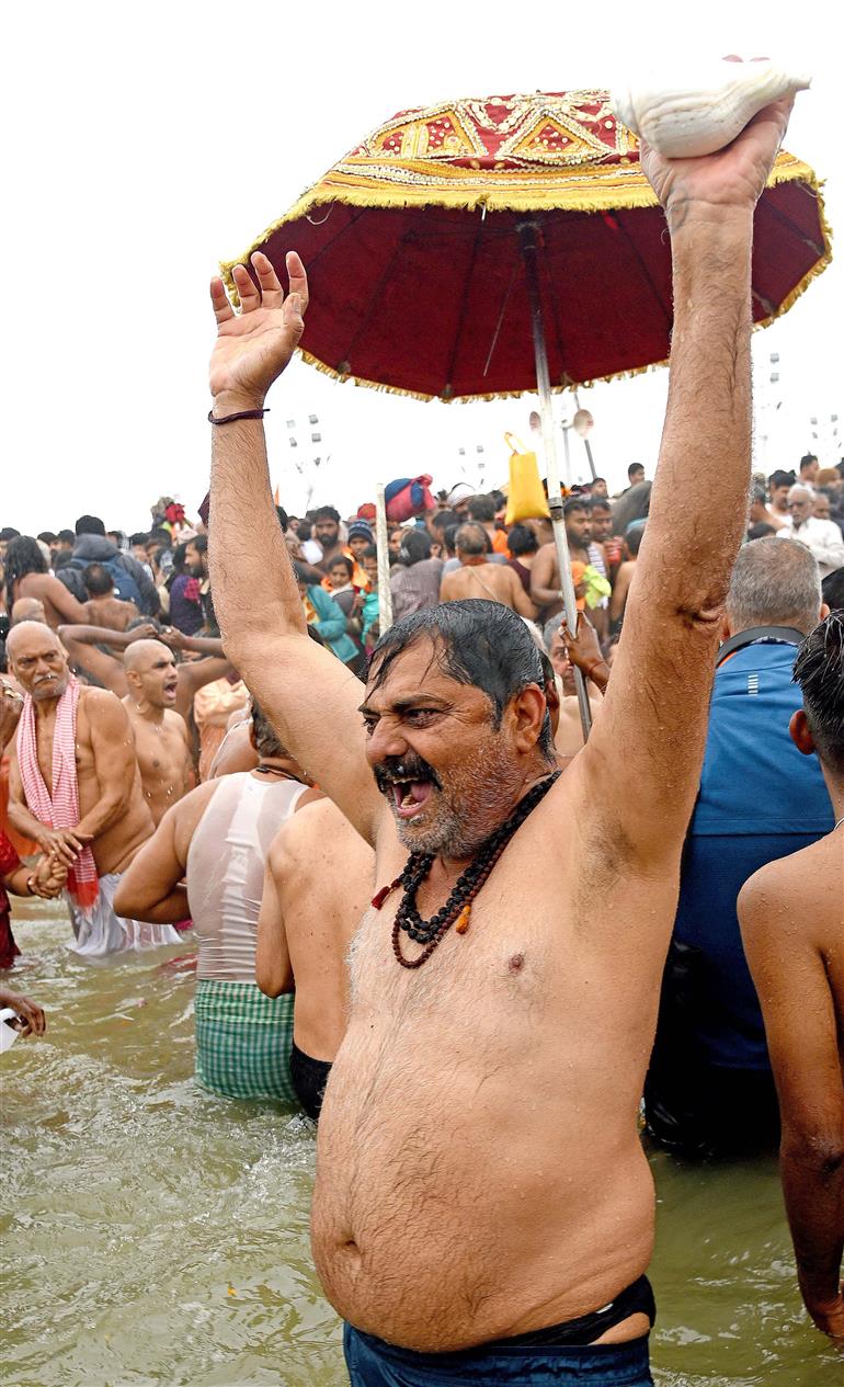
[[[195,784],[187,723],[175,712],[176,660],[162,641],[133,641],[123,667],[129,685],[123,707],[134,732],[144,799],[158,828],[168,809]]]

